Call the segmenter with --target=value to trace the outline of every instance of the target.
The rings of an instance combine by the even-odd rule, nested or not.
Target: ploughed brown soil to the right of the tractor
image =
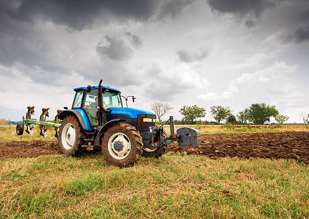
[[[178,149],[171,144],[168,151],[220,157],[262,157],[296,159],[309,163],[309,132],[207,134],[201,136],[197,148]]]

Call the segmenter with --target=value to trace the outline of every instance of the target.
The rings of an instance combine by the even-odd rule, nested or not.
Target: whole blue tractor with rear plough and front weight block
[[[167,145],[174,141],[180,148],[195,148],[200,144],[200,133],[193,128],[182,127],[174,132],[174,120],[171,116],[163,125],[156,125],[157,116],[142,109],[124,107],[128,98],[120,90],[109,86],[78,87],[71,109],[57,111],[53,122],[46,121],[46,108],[42,109],[40,121],[31,119],[34,106],[28,106],[23,124],[16,127],[18,135],[33,133],[33,125],[40,125],[41,135],[46,137],[45,126],[55,127],[56,137],[63,153],[78,156],[88,150],[101,150],[104,158],[112,165],[128,167],[140,156],[160,157]],[[48,110],[48,108],[47,108]],[[47,112],[48,116],[48,112]],[[163,126],[170,122],[171,134],[168,136]]]

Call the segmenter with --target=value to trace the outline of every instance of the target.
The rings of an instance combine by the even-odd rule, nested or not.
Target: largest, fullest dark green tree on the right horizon
[[[275,105],[266,103],[255,103],[248,109],[249,122],[263,125],[266,121],[270,122],[271,117],[276,117],[279,114]]]

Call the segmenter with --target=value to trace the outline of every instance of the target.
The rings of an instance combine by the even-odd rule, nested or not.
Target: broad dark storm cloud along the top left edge
[[[25,0],[19,6],[5,11],[18,21],[35,22],[36,19],[52,21],[72,29],[91,28],[97,18],[115,16],[120,19],[147,20],[155,13],[157,1],[152,0]]]

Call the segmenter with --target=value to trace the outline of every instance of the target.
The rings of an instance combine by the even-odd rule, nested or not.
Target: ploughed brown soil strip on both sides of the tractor
[[[309,132],[205,134],[197,148],[178,149],[177,143],[167,151],[220,157],[263,157],[296,159],[309,163]],[[57,141],[0,142],[0,158],[36,157],[61,153]]]

